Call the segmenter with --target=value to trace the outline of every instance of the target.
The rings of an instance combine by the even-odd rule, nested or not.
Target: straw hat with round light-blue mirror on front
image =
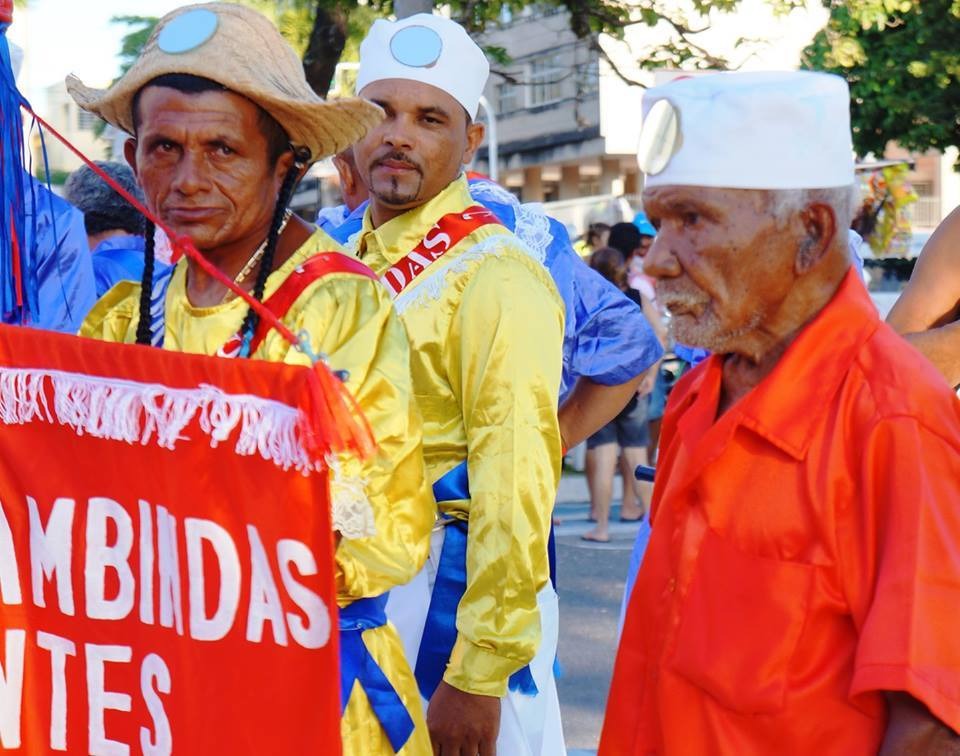
[[[84,110],[133,133],[133,98],[164,74],[193,74],[255,102],[283,126],[296,147],[318,160],[349,147],[383,118],[356,97],[326,101],[307,84],[303,65],[276,27],[232,3],[178,8],[157,24],[140,57],[109,89],[71,74],[67,91]]]

